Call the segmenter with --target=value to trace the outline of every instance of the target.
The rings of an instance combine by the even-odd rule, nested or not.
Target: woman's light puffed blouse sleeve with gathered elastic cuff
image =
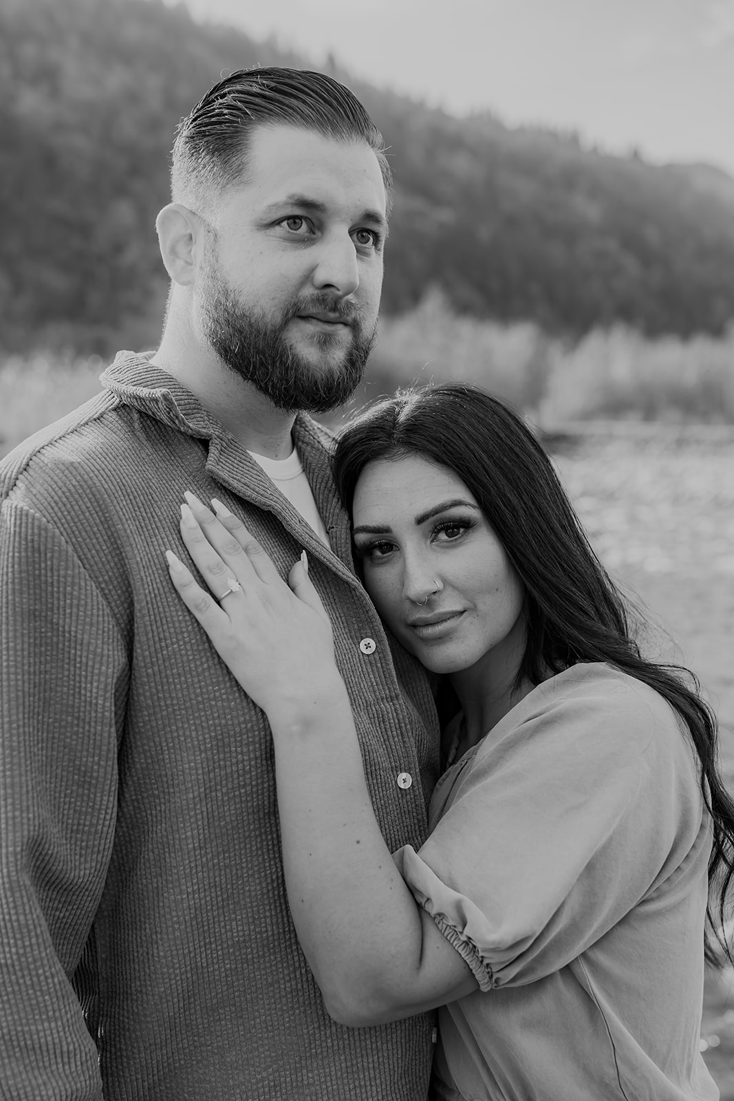
[[[395,853],[482,990],[565,967],[709,841],[672,710],[594,668],[526,697],[463,765],[420,850]]]

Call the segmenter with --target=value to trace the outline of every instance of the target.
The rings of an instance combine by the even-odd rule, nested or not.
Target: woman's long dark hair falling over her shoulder
[[[527,644],[517,685],[540,684],[579,662],[606,662],[668,700],[688,730],[713,822],[706,958],[734,962],[725,929],[734,875],[734,802],[719,771],[716,720],[688,669],[646,661],[624,600],[592,550],[550,459],[525,422],[469,385],[401,391],[347,425],[333,470],[351,514],[357,481],[374,459],[420,455],[472,492],[525,589]],[[690,687],[689,687],[690,686]]]

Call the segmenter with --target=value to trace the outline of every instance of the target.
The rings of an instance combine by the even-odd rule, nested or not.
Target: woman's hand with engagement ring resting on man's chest
[[[167,550],[171,578],[182,600],[271,724],[299,726],[344,693],[333,658],[331,624],[308,577],[305,553],[286,585],[224,505],[212,501],[215,515],[194,494],[186,493],[186,500],[182,537],[216,599]]]

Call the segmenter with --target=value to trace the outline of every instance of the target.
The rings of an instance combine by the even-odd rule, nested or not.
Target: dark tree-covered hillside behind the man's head
[[[0,347],[154,340],[153,230],[179,118],[220,74],[308,67],[162,0],[0,0]],[[335,73],[391,146],[383,308],[439,286],[462,313],[580,335],[734,319],[734,182],[458,120]]]

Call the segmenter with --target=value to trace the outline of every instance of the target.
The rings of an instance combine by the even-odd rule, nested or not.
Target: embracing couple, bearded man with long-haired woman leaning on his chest
[[[222,80],[160,347],[0,468],[2,1098],[717,1097],[713,717],[501,402],[308,415],[390,193],[343,86]]]

